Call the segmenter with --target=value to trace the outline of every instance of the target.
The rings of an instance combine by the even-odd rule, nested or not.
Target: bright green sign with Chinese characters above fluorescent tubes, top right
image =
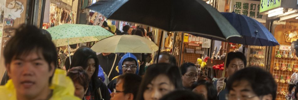
[[[280,8],[281,0],[261,0],[260,5],[260,12],[265,12],[274,8]]]

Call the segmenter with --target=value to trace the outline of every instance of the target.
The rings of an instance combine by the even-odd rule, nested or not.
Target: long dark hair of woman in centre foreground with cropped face
[[[141,86],[139,88],[136,100],[144,100],[143,93],[147,89],[147,85],[151,83],[158,75],[166,75],[170,82],[175,86],[175,89],[182,89],[182,79],[180,70],[176,65],[168,63],[158,63],[148,66],[146,73],[143,77]]]

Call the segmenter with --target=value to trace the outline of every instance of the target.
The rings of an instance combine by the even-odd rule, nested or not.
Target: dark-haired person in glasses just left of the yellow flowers
[[[198,80],[198,68],[193,63],[183,63],[180,70],[183,87],[191,88],[191,85]]]

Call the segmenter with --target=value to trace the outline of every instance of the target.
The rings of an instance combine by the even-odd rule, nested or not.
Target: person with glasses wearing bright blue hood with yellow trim
[[[139,73],[139,63],[135,55],[132,53],[126,53],[118,63],[116,67],[118,70],[119,75],[132,73],[138,74]],[[108,84],[108,88],[113,92],[114,88],[116,88],[117,77],[113,78],[113,80]]]

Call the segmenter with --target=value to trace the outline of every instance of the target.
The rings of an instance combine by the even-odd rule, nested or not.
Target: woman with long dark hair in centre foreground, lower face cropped
[[[146,70],[136,100],[158,100],[181,88],[182,80],[177,66],[168,63],[153,64]]]

